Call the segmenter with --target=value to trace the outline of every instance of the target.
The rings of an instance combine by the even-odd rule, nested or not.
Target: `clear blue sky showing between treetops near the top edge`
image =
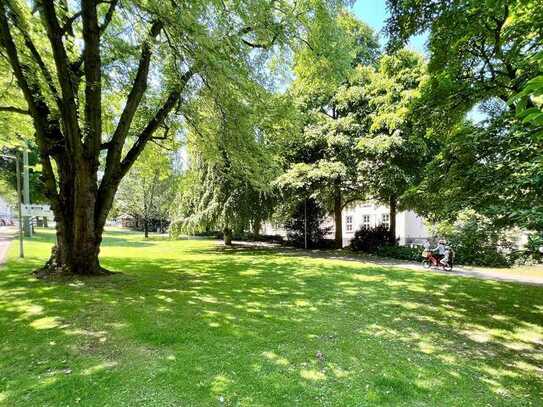
[[[388,18],[388,11],[385,0],[357,0],[352,8],[354,14],[365,23],[369,24],[381,38],[381,44],[385,45],[386,37],[382,32],[385,21]],[[408,48],[426,55],[425,42],[427,35],[418,35],[411,38]]]

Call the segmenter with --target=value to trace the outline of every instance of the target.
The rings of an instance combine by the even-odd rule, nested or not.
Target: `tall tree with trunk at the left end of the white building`
[[[334,214],[336,246],[342,247],[343,208],[362,192],[356,168],[360,126],[347,106],[340,108],[338,98],[346,92],[342,85],[354,66],[376,62],[379,43],[366,24],[348,13],[334,23],[325,31],[316,27],[295,58],[297,77],[291,91],[302,113],[303,131],[284,147],[287,168],[278,182],[291,194],[326,205]]]

